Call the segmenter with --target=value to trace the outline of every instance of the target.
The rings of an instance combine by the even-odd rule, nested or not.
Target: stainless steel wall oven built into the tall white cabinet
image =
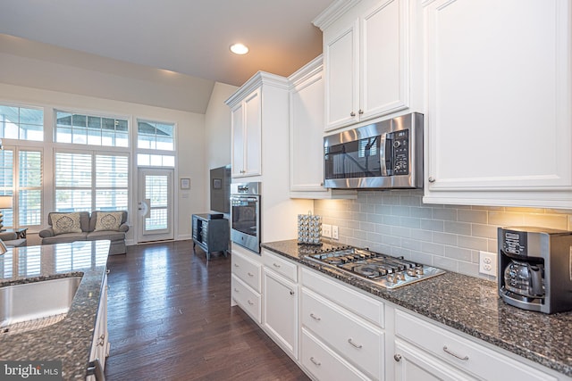
[[[231,184],[231,241],[260,253],[260,183]]]

